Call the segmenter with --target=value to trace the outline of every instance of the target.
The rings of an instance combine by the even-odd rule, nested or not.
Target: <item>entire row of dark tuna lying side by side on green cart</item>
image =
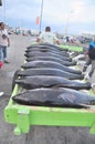
[[[25,63],[18,72],[15,83],[25,91],[12,99],[19,104],[53,107],[89,107],[95,104],[93,95],[81,92],[89,90],[91,83],[76,70],[76,62],[67,49],[52,44],[34,44],[24,53]]]

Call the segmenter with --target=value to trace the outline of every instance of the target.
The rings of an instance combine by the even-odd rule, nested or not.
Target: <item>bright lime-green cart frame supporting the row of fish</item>
[[[21,91],[22,88],[15,84],[11,97]],[[95,134],[95,106],[91,109],[28,106],[14,103],[11,97],[4,107],[4,120],[15,125],[15,135],[29,133],[32,125],[87,126],[91,128],[89,132]]]

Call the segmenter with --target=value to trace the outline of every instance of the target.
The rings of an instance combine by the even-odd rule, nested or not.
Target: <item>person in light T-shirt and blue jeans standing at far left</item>
[[[3,60],[4,63],[9,63],[9,61],[7,60],[8,47],[10,47],[9,34],[7,32],[6,24],[3,22],[0,22],[0,56],[1,61]]]

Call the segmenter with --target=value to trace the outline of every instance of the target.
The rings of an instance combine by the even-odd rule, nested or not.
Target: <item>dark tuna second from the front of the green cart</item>
[[[45,75],[36,75],[24,79],[15,80],[15,83],[21,85],[27,90],[36,89],[36,88],[70,88],[74,90],[89,90],[91,83],[82,83],[75,82],[72,80],[67,80],[62,76],[45,76]]]

